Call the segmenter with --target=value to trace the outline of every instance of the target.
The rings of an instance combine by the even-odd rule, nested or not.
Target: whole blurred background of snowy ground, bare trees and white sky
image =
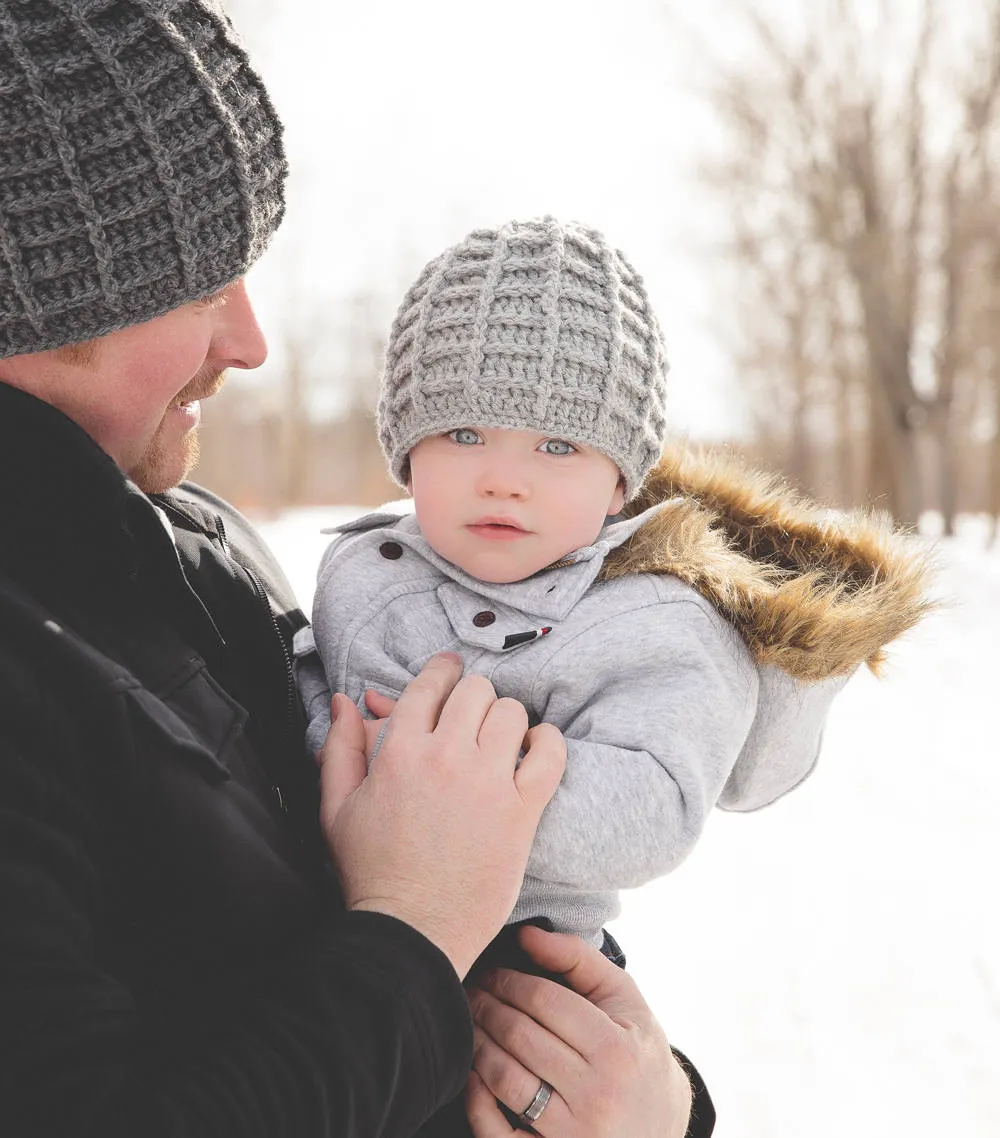
[[[477,225],[553,213],[646,279],[675,436],[935,547],[944,602],[851,679],[805,785],[714,811],[612,931],[718,1138],[1000,1135],[1000,0],[228,0],[287,123],[251,274],[271,343],[197,477],[308,610],[395,497],[396,307]]]

